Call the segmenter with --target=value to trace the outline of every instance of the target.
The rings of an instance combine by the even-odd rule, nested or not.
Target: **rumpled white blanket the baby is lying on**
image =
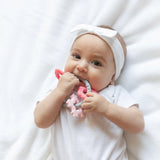
[[[38,129],[33,111],[39,93],[55,83],[54,69],[63,69],[69,31],[79,23],[110,25],[124,37],[127,63],[118,83],[145,118],[143,133],[126,134],[129,159],[160,159],[159,6],[159,0],[0,0],[0,159],[51,159],[50,128]]]

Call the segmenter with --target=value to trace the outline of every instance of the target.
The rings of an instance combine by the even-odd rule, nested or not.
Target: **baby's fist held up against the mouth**
[[[66,72],[59,78],[57,88],[68,96],[79,83],[79,79],[74,74]]]

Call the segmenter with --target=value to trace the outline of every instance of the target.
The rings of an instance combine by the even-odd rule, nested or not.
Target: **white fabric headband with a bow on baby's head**
[[[76,37],[79,37],[80,35],[86,34],[86,33],[93,33],[101,37],[103,40],[105,40],[109,46],[112,49],[113,55],[114,55],[114,60],[115,60],[115,65],[116,65],[116,74],[115,74],[115,80],[120,75],[120,72],[123,68],[124,65],[124,51],[122,48],[122,45],[118,38],[116,37],[117,31],[107,29],[107,28],[101,28],[101,27],[96,27],[92,25],[87,25],[87,24],[80,24],[75,26],[71,32],[76,33]]]

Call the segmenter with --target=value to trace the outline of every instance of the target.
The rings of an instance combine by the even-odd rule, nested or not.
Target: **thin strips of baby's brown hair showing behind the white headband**
[[[113,28],[110,27],[110,26],[100,25],[100,26],[98,26],[98,27],[107,28],[107,29],[111,29],[111,30],[115,30],[115,29],[113,29]],[[117,34],[117,39],[119,40],[119,42],[120,42],[121,45],[122,45],[122,48],[123,48],[123,51],[124,51],[124,56],[125,56],[125,58],[126,58],[126,54],[127,54],[126,43],[125,43],[123,37],[119,34],[119,32],[118,32],[118,34]]]

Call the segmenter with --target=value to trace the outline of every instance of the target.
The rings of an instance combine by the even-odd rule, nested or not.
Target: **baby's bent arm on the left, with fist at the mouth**
[[[47,128],[55,122],[65,98],[78,84],[79,79],[72,73],[60,77],[57,87],[36,106],[34,118],[38,127]]]

